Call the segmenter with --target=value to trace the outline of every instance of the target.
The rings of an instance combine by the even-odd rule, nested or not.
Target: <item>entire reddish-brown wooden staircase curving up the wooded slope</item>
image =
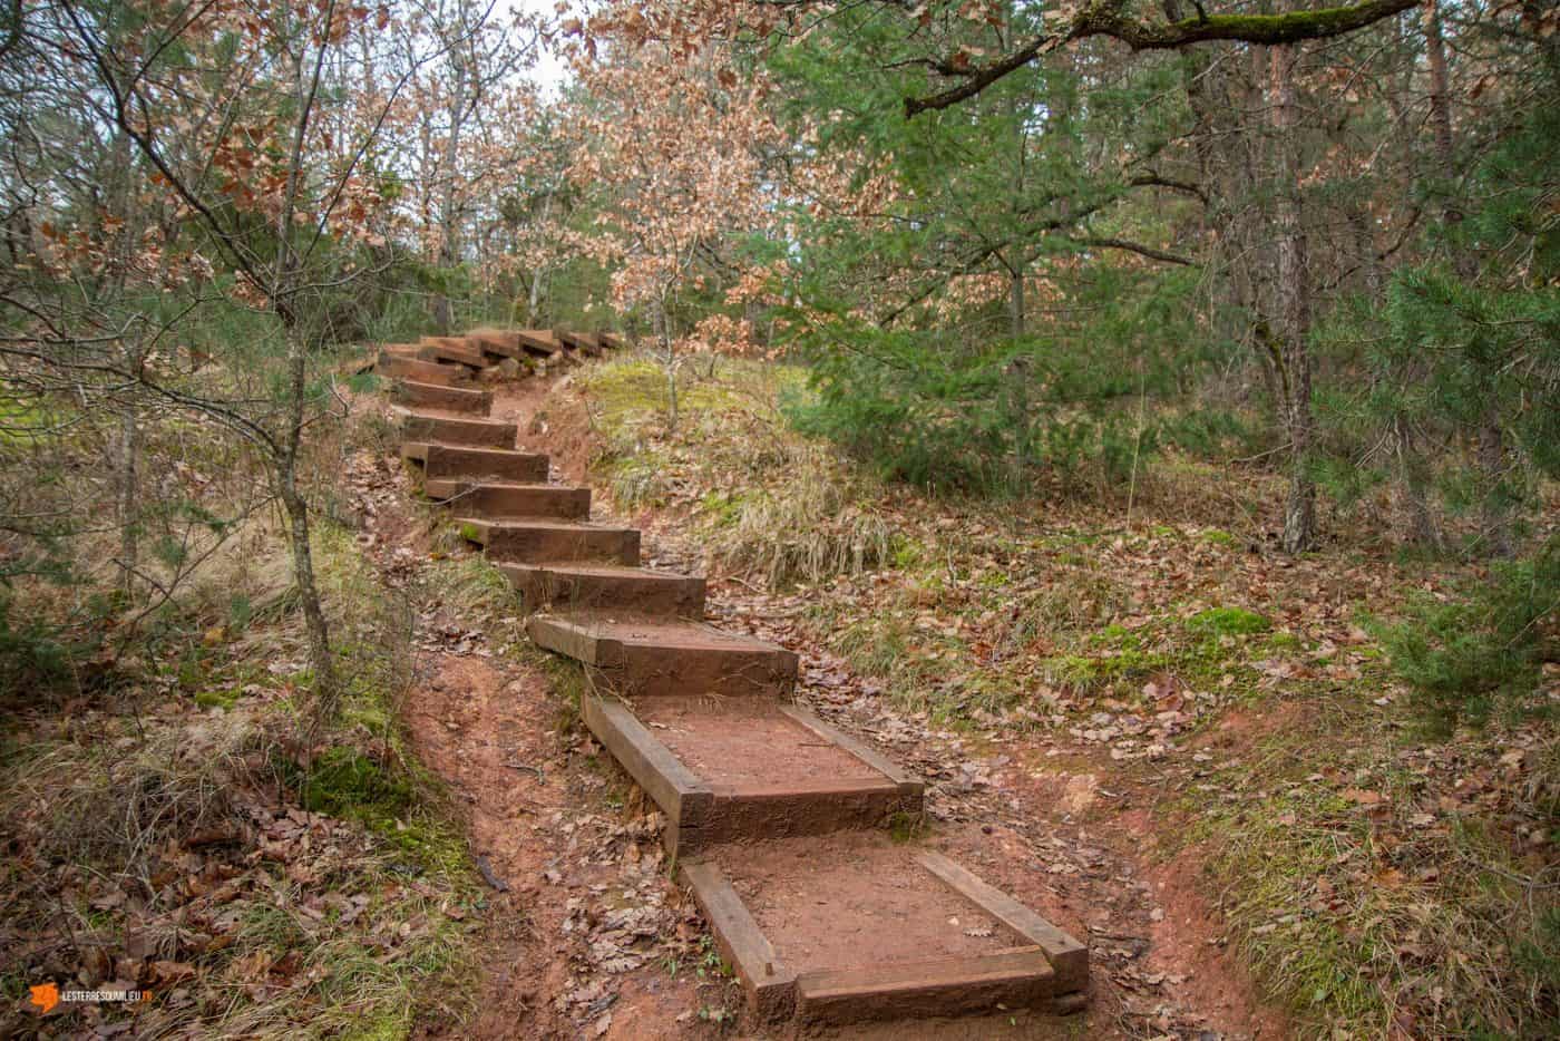
[[[513,584],[582,716],[666,815],[663,841],[760,1019],[850,1022],[1084,1005],[1087,950],[947,857],[894,841],[922,782],[792,704],[797,656],[704,621],[704,579],[640,565],[640,532],[488,418],[485,368],[569,364],[610,334],[479,329],[381,351],[402,459]],[[900,827],[903,830],[903,827]],[[961,922],[973,922],[963,926]]]

